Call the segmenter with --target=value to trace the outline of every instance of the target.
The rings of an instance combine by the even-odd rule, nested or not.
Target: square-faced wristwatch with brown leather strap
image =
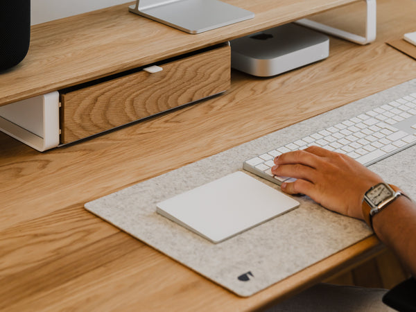
[[[406,196],[406,194],[393,184],[381,182],[374,185],[374,187],[370,187],[365,192],[363,200],[365,223],[372,228],[372,217],[374,214],[378,214],[399,196]],[[408,196],[406,197],[409,198]]]

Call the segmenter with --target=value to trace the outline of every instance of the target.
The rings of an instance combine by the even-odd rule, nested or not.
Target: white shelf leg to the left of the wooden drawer
[[[59,145],[59,92],[0,107],[0,130],[43,152]]]

